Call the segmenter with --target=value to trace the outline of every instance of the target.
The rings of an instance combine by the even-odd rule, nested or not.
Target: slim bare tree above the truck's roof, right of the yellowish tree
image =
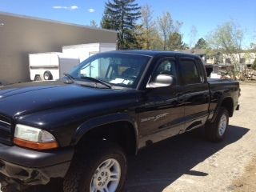
[[[158,28],[162,36],[163,50],[167,49],[167,42],[173,27],[173,19],[169,12],[162,14],[162,17],[158,18]]]

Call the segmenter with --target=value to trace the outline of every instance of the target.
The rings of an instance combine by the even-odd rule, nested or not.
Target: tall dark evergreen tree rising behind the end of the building
[[[136,21],[141,17],[141,7],[135,0],[113,0],[106,2],[101,26],[108,30],[118,31],[118,49],[138,47],[135,31]]]

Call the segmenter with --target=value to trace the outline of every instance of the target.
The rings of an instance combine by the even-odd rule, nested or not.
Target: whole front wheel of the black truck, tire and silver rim
[[[75,155],[64,178],[64,192],[122,191],[126,179],[126,155],[120,147],[105,143],[81,152]]]

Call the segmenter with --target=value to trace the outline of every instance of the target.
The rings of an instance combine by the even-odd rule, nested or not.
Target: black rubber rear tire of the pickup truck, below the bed
[[[220,133],[220,121],[222,119],[222,116],[226,116],[226,128],[225,130],[222,130],[222,134]],[[210,142],[221,142],[226,135],[226,130],[229,126],[229,112],[226,110],[226,108],[221,107],[218,111],[218,115],[215,118],[215,121],[212,123],[206,123],[205,130],[206,130],[206,138]],[[223,126],[224,127],[224,126]]]

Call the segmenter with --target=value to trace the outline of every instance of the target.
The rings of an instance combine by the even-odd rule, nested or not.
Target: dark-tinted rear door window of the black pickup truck
[[[181,59],[180,69],[181,69],[181,75],[182,75],[182,82],[185,85],[202,82],[200,75],[198,74],[198,68],[194,60]]]

